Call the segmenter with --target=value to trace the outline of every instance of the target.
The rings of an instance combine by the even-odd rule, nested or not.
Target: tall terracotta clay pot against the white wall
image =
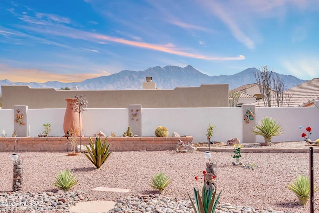
[[[76,100],[76,98],[67,98],[65,99],[67,104],[66,104],[66,109],[65,109],[65,114],[64,114],[64,122],[63,122],[63,130],[65,135],[67,135],[68,130],[75,130],[76,136],[80,136],[80,122],[81,122],[81,132],[83,130],[82,127],[82,116],[81,113],[75,112],[72,109],[72,101]]]

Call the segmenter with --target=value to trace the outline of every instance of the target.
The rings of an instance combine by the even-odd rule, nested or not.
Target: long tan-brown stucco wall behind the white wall
[[[203,84],[173,90],[56,90],[29,86],[2,85],[2,108],[27,105],[29,109],[65,108],[66,98],[85,95],[89,108],[228,107],[228,84]]]

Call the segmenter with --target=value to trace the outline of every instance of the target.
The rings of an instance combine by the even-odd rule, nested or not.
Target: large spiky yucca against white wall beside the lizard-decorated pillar
[[[283,134],[283,128],[274,118],[266,116],[253,127],[252,133],[263,136],[269,146],[272,137]]]

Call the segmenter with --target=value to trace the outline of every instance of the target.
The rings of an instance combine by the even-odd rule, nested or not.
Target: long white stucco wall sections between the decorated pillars
[[[316,102],[319,105],[319,101]],[[143,106],[142,106],[143,107]],[[51,124],[52,136],[62,136],[65,109],[29,109],[30,136],[43,132],[43,124]],[[272,116],[283,125],[284,134],[275,136],[272,142],[303,140],[306,127],[313,129],[310,139],[319,138],[319,110],[316,107],[256,108],[256,123],[264,116]],[[128,108],[96,108],[82,113],[83,134],[92,136],[101,130],[110,136],[111,131],[121,136],[128,127]],[[212,140],[226,142],[237,137],[242,141],[242,108],[142,108],[142,136],[154,136],[157,126],[165,126],[169,135],[192,135],[193,142],[206,142],[206,130],[211,123],[217,126]],[[302,126],[302,129],[299,127]],[[4,129],[11,137],[14,130],[13,109],[0,109],[0,132]],[[263,142],[257,136],[256,142]]]

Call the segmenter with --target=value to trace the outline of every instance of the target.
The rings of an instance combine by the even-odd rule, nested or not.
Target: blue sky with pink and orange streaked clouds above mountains
[[[0,0],[0,80],[189,64],[319,77],[319,0]]]

